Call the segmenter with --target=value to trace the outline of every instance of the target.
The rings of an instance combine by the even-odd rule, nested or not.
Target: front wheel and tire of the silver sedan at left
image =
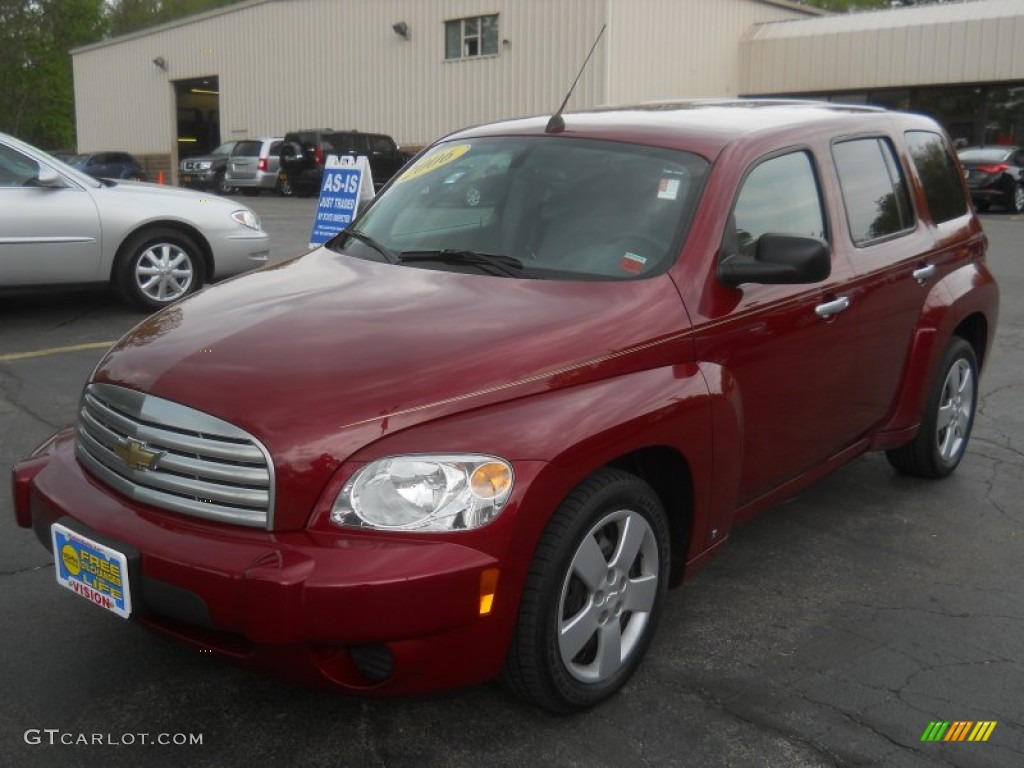
[[[195,293],[206,278],[203,252],[174,229],[148,229],[122,246],[115,267],[121,293],[148,311]]]

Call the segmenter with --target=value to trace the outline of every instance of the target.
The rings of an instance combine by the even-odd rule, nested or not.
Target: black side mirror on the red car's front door
[[[733,254],[718,265],[718,279],[731,288],[743,283],[820,283],[830,273],[831,257],[823,240],[772,232],[758,238],[753,258]]]

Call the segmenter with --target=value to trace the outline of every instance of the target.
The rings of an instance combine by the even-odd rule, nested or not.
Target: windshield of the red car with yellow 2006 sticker
[[[708,167],[685,152],[564,136],[452,141],[352,224],[361,237],[330,247],[420,268],[643,278],[679,253]]]

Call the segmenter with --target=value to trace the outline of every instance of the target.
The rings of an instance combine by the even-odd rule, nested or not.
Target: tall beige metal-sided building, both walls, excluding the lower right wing
[[[425,144],[569,109],[735,95],[737,41],[784,0],[249,0],[72,52],[81,152],[151,169],[220,141],[354,128]]]

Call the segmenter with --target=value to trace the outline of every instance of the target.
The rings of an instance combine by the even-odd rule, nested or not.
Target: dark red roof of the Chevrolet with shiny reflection
[[[878,131],[898,120],[904,129],[937,130],[930,118],[880,108],[782,99],[699,99],[608,106],[562,115],[560,135],[604,138],[717,157],[727,145],[758,137]],[[449,140],[543,135],[550,116],[508,120],[458,131]]]

